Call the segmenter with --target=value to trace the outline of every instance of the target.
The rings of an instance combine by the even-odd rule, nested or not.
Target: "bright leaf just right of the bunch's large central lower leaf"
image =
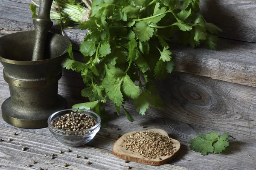
[[[139,86],[135,85],[128,75],[125,75],[122,78],[122,81],[123,81],[122,89],[126,96],[129,96],[132,99],[135,99],[140,95]]]

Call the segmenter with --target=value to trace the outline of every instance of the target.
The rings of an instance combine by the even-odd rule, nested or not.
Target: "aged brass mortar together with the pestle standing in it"
[[[71,42],[48,32],[53,24],[51,5],[52,0],[40,0],[38,16],[33,19],[35,31],[0,37],[3,78],[11,95],[2,104],[2,116],[16,127],[47,127],[48,117],[67,107],[64,97],[58,95],[58,80]]]

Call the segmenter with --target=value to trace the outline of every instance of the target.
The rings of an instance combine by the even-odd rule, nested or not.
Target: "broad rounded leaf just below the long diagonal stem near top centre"
[[[134,32],[136,37],[140,39],[140,41],[148,41],[154,33],[154,28],[149,27],[145,22],[140,21],[136,24],[134,28]]]

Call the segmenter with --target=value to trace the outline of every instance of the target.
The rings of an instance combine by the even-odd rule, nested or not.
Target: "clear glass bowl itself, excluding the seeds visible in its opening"
[[[67,131],[67,130],[61,130],[52,125],[52,120],[58,118],[59,116],[63,116],[66,113],[81,113],[90,116],[91,118],[95,119],[97,121],[96,125],[89,129],[84,130],[78,130],[78,131]],[[100,129],[100,122],[101,119],[98,114],[94,113],[93,111],[87,111],[84,109],[65,109],[62,111],[58,111],[53,113],[49,119],[48,119],[48,128],[50,133],[62,144],[68,145],[68,146],[81,146],[84,144],[87,144],[90,142],[90,140],[93,139],[93,137],[96,135],[97,132],[99,132]]]

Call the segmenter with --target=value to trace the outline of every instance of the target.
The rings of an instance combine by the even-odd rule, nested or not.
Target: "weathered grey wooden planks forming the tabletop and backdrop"
[[[0,0],[0,34],[34,29],[29,3],[30,0]],[[111,116],[107,127],[101,128],[87,145],[74,148],[58,142],[47,128],[32,130],[13,127],[4,122],[0,115],[0,138],[4,140],[0,142],[0,170],[39,167],[48,170],[125,170],[128,166],[132,170],[255,170],[256,44],[252,43],[256,42],[256,19],[253,17],[255,0],[247,0],[246,3],[240,0],[227,0],[225,3],[205,0],[201,3],[203,14],[224,27],[226,33],[221,34],[224,38],[217,51],[173,46],[177,72],[163,82],[156,82],[160,86],[159,94],[166,103],[166,110],[150,108],[145,116],[141,116],[135,111],[132,101],[127,102],[125,107],[135,119],[129,122],[124,113],[115,115],[113,104],[107,102],[106,111]],[[211,17],[214,10],[210,10],[210,6],[221,6],[223,10],[217,14],[221,15],[221,20]],[[238,12],[233,14],[234,11]],[[238,19],[243,19],[243,25],[239,24]],[[52,31],[58,32],[59,29],[54,26]],[[66,29],[65,34],[77,45],[84,37],[84,32],[79,30]],[[3,66],[0,65],[0,105],[10,96],[2,70]],[[81,97],[84,87],[79,74],[63,69],[58,93],[67,99],[69,108],[85,102]],[[116,127],[120,130],[116,130]],[[112,146],[118,135],[152,128],[166,130],[170,137],[180,141],[180,153],[175,159],[161,166],[149,166],[125,163],[113,156]],[[189,149],[190,139],[199,133],[215,130],[219,134],[229,132],[235,137],[229,140],[230,147],[223,153],[202,156]],[[14,132],[17,136],[13,135]],[[7,141],[8,138],[12,141]],[[22,151],[23,146],[28,149]],[[68,148],[72,152],[65,152]],[[58,150],[64,153],[59,154]],[[55,159],[50,158],[51,153],[56,154]],[[80,157],[76,158],[76,154]],[[83,159],[83,156],[88,159]],[[37,163],[32,164],[33,160]],[[92,164],[87,164],[87,161]],[[32,167],[27,167],[29,163]],[[64,167],[64,163],[69,166]]]

